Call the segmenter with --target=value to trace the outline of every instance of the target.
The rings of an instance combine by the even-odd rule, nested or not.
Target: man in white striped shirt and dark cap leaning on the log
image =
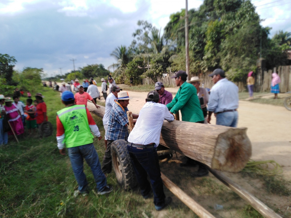
[[[148,93],[146,103],[139,112],[139,118],[128,137],[127,151],[136,174],[142,196],[150,196],[150,183],[154,193],[156,210],[162,210],[171,197],[166,198],[157,155],[163,121],[174,120],[174,116],[164,104],[159,104],[159,94],[156,91]],[[142,155],[142,156],[141,156]],[[150,177],[150,183],[147,177]]]

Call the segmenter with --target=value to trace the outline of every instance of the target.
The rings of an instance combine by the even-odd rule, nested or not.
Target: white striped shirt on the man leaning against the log
[[[145,103],[139,112],[139,118],[133,130],[128,136],[128,142],[143,145],[155,143],[155,147],[157,147],[160,143],[164,120],[169,122],[174,120],[174,116],[170,114],[165,105],[152,101]]]

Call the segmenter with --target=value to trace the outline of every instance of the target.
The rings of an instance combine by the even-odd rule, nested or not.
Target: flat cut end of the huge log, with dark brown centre
[[[246,130],[247,128],[230,128],[218,136],[212,169],[239,172],[245,167],[252,154],[251,141]]]

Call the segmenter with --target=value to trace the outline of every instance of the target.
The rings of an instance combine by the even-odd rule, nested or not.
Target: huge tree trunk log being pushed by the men
[[[91,103],[87,107],[103,117],[105,107],[96,109]],[[164,121],[160,144],[202,162],[211,169],[239,172],[251,157],[251,141],[246,130],[176,120]]]

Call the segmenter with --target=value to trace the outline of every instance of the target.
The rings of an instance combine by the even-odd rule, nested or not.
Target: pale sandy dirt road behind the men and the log
[[[101,90],[101,87],[98,87]],[[178,88],[167,88],[176,93]],[[125,90],[123,90],[125,91]],[[128,91],[132,99],[128,109],[139,113],[145,103],[147,92]],[[173,95],[175,96],[175,95]],[[104,101],[101,98],[101,101]],[[253,146],[253,160],[275,160],[283,167],[286,179],[291,179],[291,111],[284,107],[239,101],[238,127],[247,127]],[[180,116],[181,117],[181,116]],[[212,117],[212,125],[215,118]]]

